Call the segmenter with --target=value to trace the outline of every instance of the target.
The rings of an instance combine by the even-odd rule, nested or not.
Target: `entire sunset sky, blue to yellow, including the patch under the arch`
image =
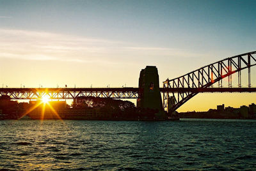
[[[2,1],[0,85],[138,87],[256,50],[256,1]],[[256,87],[252,68],[252,86]],[[246,82],[244,82],[244,87]],[[198,94],[179,112],[256,103],[252,94]]]

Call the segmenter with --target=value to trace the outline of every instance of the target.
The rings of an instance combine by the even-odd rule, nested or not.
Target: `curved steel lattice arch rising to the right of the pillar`
[[[238,56],[228,57],[216,63],[209,64],[198,70],[191,71],[172,80],[167,79],[163,82],[163,107],[172,114],[177,108],[182,106],[196,94],[200,89],[212,89],[214,83],[218,82],[219,89],[223,89],[222,79],[228,77],[228,89],[232,87],[232,74],[238,73],[238,88],[241,88],[241,70],[248,68],[248,88],[251,87],[250,67],[256,65],[254,52],[248,52]],[[191,89],[198,91],[182,91],[175,93],[167,89]],[[234,89],[234,88],[232,88]]]

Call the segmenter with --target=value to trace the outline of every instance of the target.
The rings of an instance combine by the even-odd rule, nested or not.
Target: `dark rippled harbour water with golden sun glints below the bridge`
[[[0,168],[256,170],[256,121],[0,121]]]

